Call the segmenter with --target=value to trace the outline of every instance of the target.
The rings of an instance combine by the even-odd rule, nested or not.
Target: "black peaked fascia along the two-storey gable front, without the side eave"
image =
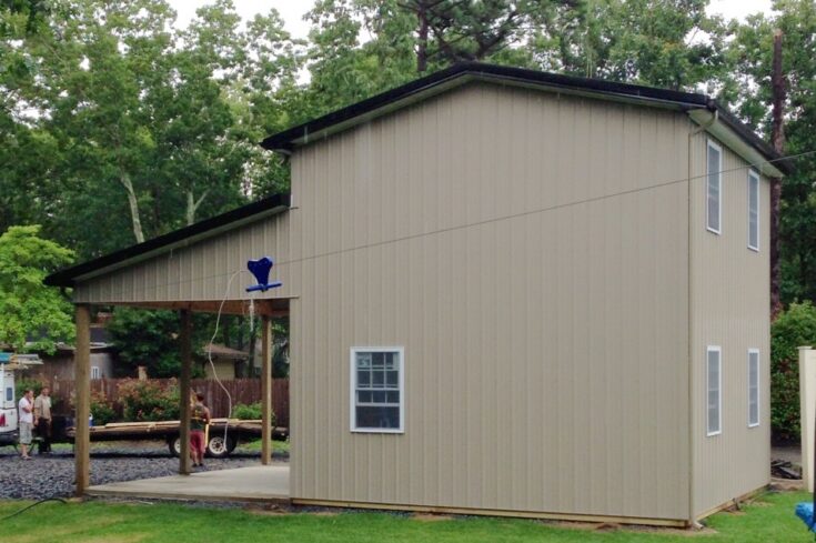
[[[395,89],[391,89],[381,94],[376,94],[375,97],[361,102],[353,103],[323,117],[319,117],[318,119],[298,127],[270,135],[261,142],[261,145],[264,149],[272,151],[291,152],[294,149],[294,142],[301,138],[318,133],[335,124],[352,120],[355,117],[363,115],[393,102],[409,98],[412,94],[439,87],[447,81],[464,76],[481,76],[531,86],[562,88],[564,90],[572,91],[597,92],[601,94],[614,94],[618,97],[629,97],[635,100],[641,99],[644,101],[673,102],[688,108],[707,108],[711,102],[709,98],[705,94],[695,94],[629,83],[617,83],[601,79],[562,76],[524,68],[485,64],[481,62],[463,62],[434,72],[424,78],[411,81],[410,83]]]

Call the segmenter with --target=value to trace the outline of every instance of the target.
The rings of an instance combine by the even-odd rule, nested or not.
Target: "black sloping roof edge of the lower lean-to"
[[[48,275],[43,280],[43,283],[49,286],[73,286],[74,279],[78,276],[85,275],[97,270],[102,270],[104,268],[118,264],[132,258],[157,251],[174,243],[182,242],[189,238],[204,234],[210,230],[215,230],[222,227],[226,227],[233,222],[249,219],[252,215],[263,213],[264,211],[269,211],[275,208],[289,208],[290,201],[290,194],[274,194],[256,202],[252,202],[246,205],[233,209],[231,211],[228,211],[226,213],[211,217],[210,219],[204,219],[203,221],[197,222],[195,224],[191,224],[179,230],[173,230],[172,232],[169,232],[164,235],[159,235],[158,238],[153,238],[152,240],[148,240],[143,243],[138,243],[135,245],[114,251],[110,254],[105,254],[98,259],[89,260],[88,262],[82,262],[81,264],[62,269]]]

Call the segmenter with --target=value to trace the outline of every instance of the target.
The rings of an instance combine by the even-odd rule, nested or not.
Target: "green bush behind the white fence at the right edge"
[[[770,326],[770,426],[774,439],[799,439],[799,353],[816,346],[816,308],[792,303]]]

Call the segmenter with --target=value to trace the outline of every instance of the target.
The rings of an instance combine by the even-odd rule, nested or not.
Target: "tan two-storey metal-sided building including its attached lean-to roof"
[[[264,147],[291,197],[47,281],[289,313],[294,502],[688,524],[768,483],[788,167],[716,102],[462,64]]]

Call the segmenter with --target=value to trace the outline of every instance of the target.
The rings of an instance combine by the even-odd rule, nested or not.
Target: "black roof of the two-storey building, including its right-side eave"
[[[773,161],[782,172],[790,172],[790,165],[786,161],[780,160],[780,155],[768,143],[759,139],[726,108],[706,94],[617,83],[600,79],[576,78],[480,62],[455,64],[445,70],[416,79],[367,100],[270,135],[261,144],[265,149],[291,153],[298,145],[303,145],[315,139],[349,129],[449,89],[461,87],[470,81],[493,81],[503,84],[548,89],[607,100],[676,108],[681,111],[707,110],[716,112],[717,120],[721,121],[725,129],[733,131],[744,144],[758,151],[764,160]],[[695,122],[703,123],[698,119],[694,120]]]

